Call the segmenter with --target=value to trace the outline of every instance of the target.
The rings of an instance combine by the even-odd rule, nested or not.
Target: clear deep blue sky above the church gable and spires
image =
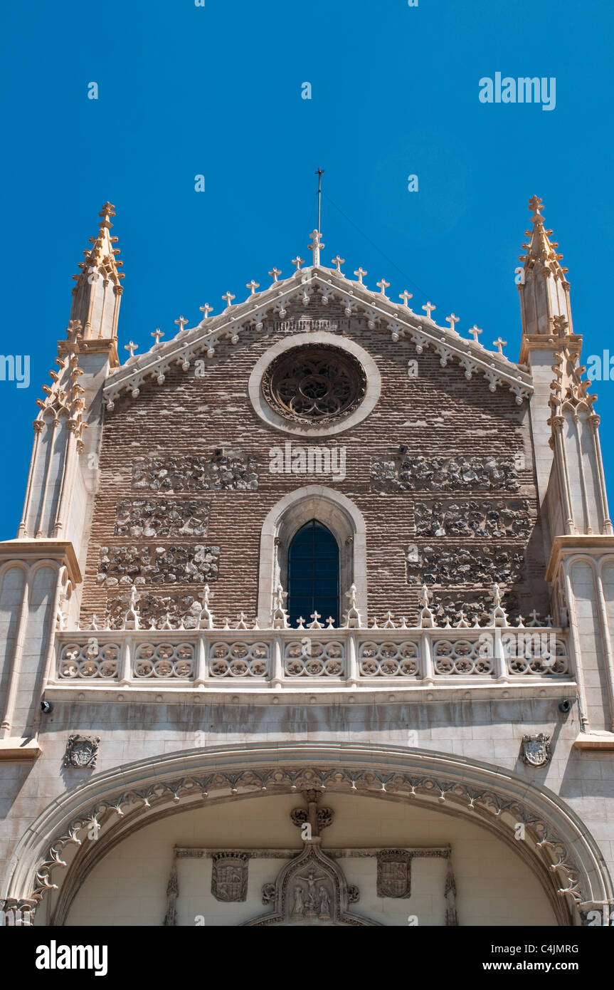
[[[264,287],[274,265],[288,275],[307,258],[318,165],[325,263],[362,264],[371,287],[384,275],[418,312],[430,298],[442,323],[454,310],[457,329],[477,323],[486,346],[500,334],[514,360],[514,267],[527,200],[542,196],[584,357],[614,353],[611,0],[34,0],[0,16],[2,352],[32,356],[30,388],[0,382],[4,539],[71,275],[107,199],[125,261],[122,359],[131,338],[143,351],[159,326],[168,340],[180,314],[194,326],[227,289],[244,298],[250,279]],[[555,76],[556,109],[483,105],[479,80],[496,71]],[[614,383],[595,390],[614,478]]]

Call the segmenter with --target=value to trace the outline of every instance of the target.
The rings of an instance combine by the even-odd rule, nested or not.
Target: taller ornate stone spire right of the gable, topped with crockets
[[[519,255],[524,264],[517,269],[522,330],[529,337],[553,336],[557,318],[564,318],[566,334],[572,333],[568,269],[561,265],[563,254],[557,252],[559,245],[550,240],[553,232],[545,227],[543,210],[542,200],[533,196],[529,200],[533,226],[525,231],[530,241],[522,246],[527,253]]]

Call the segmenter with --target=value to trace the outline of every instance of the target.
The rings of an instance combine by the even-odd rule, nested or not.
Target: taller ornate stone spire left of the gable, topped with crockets
[[[99,217],[98,236],[90,238],[92,247],[83,251],[85,260],[79,262],[81,271],[72,276],[77,284],[72,290],[70,319],[81,324],[82,349],[108,349],[111,365],[117,367],[117,325],[124,278],[119,269],[124,262],[117,259],[120,248],[114,245],[118,239],[110,233],[111,218],[115,217],[113,204],[105,203]]]

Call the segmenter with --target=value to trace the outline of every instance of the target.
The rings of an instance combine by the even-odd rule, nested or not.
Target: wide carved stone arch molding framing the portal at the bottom
[[[77,879],[133,831],[203,803],[316,788],[357,797],[409,801],[468,817],[532,862],[551,903],[570,912],[587,903],[614,903],[614,888],[596,842],[555,793],[526,777],[465,757],[359,743],[267,743],[166,753],[124,764],[54,799],[13,852],[0,897],[40,902],[57,889],[66,859]],[[98,823],[99,840],[84,842]],[[515,841],[518,823],[525,841]],[[71,845],[76,858],[66,856]],[[558,910],[560,924],[570,915]]]

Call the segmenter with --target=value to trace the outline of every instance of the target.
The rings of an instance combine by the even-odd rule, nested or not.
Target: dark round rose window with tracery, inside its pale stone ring
[[[362,364],[329,345],[286,350],[262,378],[264,397],[276,413],[310,425],[324,425],[353,412],[366,387]]]

